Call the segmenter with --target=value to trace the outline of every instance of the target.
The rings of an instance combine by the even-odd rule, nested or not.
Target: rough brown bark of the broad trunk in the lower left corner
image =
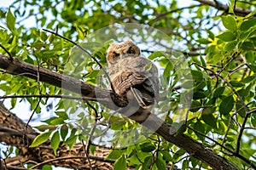
[[[69,150],[67,145],[63,145],[57,150],[57,156],[55,156],[49,142],[30,148],[29,145],[38,133],[28,126],[26,136],[24,136],[25,127],[26,124],[20,118],[6,110],[3,104],[0,103],[0,142],[16,146],[20,150],[19,156],[7,158],[5,160],[6,165],[2,163],[2,168],[0,169],[5,167],[7,169],[17,169],[26,162],[37,164],[44,161],[49,161],[49,164],[57,167],[90,169],[91,164],[91,167],[97,169],[113,169],[113,161],[104,160],[110,150],[107,147],[97,146],[94,155],[89,156],[90,164],[84,155],[82,144],[75,144],[73,150]],[[55,159],[56,161],[53,161]],[[40,169],[42,167],[38,166],[36,168]]]

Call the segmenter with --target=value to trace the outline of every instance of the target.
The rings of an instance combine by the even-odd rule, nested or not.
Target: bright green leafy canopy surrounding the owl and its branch
[[[256,3],[250,0],[231,0],[229,5],[225,5],[217,1],[195,0],[183,5],[180,2],[14,1],[9,8],[0,8],[0,44],[3,46],[0,54],[75,77],[100,88],[108,88],[104,75],[99,80],[101,68],[94,59],[73,43],[42,29],[53,30],[78,42],[105,67],[109,42],[123,40],[127,34],[121,32],[116,36],[115,32],[111,34],[108,29],[95,34],[96,31],[106,26],[122,26],[124,23],[154,27],[172,40],[175,47],[171,43],[161,42],[166,40],[161,36],[155,36],[149,42],[148,32],[142,33],[144,30],[130,32],[128,36],[133,39],[136,37],[138,43],[142,42],[143,54],[161,68],[163,99],[156,111],[165,112],[165,121],[172,124],[172,114],[175,114],[182,99],[180,90],[191,88],[193,97],[189,101],[191,105],[188,117],[177,133],[195,139],[237,168],[253,168],[256,166]],[[31,25],[28,26],[27,23]],[[113,35],[113,40],[106,38],[102,44],[90,42],[93,38],[104,39],[108,33]],[[88,42],[84,43],[84,39]],[[154,48],[156,46],[159,48]],[[170,59],[170,56],[176,56],[175,53],[183,54],[183,59],[189,66],[186,69],[191,77],[184,82],[180,79],[180,72],[175,70],[177,63]],[[60,87],[40,82],[40,79],[33,80],[26,77],[26,74],[9,74],[4,66],[1,69],[0,89],[4,96],[63,95]],[[182,77],[186,77],[187,70],[182,71]],[[64,94],[78,96],[70,92]],[[42,108],[49,105],[50,99],[14,97],[11,99],[11,109],[18,102],[27,101],[31,111],[44,114]],[[90,139],[91,155],[101,142],[113,145],[113,150],[106,158],[115,160],[114,169],[165,169],[176,165],[183,169],[211,168],[206,161],[201,161],[203,156],[194,157],[193,153],[187,153],[158,134],[143,133],[148,131],[139,123],[123,116],[112,116],[113,111],[96,101],[50,101],[55,101],[55,114],[42,120],[44,124],[36,127],[41,133],[33,140],[31,147],[37,147],[50,139],[49,145],[57,156],[61,144],[67,144],[72,150],[74,144]],[[83,111],[79,110],[80,106]],[[166,111],[165,107],[170,111]],[[72,121],[73,114],[76,116],[75,121]],[[102,116],[101,119],[96,120],[96,114]],[[98,125],[94,126],[96,122]],[[94,129],[93,135],[89,135],[91,129]],[[131,131],[128,135],[120,133],[121,130],[128,132],[129,129],[139,130]],[[108,141],[108,135],[113,135],[111,141]],[[100,137],[103,139],[99,142]],[[127,146],[126,143],[134,140],[137,140],[135,144]],[[19,144],[15,146],[20,149]],[[11,151],[2,151],[6,159],[11,157]],[[16,154],[21,153],[17,150]],[[32,164],[27,163],[26,166],[30,167]]]

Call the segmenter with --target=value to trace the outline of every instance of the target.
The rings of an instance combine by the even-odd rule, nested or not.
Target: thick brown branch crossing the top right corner
[[[220,4],[220,3],[215,3],[215,1],[209,1],[209,0],[195,0],[201,4],[206,4],[206,5],[210,5],[214,8],[217,8],[218,10],[223,10],[225,12],[229,12],[229,8],[230,6],[229,5],[223,5],[223,4]],[[246,16],[247,14],[250,14],[252,13],[252,11],[250,9],[247,9],[247,8],[234,8],[234,13],[236,15],[239,15],[239,16]],[[254,17],[256,16],[256,14],[253,15]]]

